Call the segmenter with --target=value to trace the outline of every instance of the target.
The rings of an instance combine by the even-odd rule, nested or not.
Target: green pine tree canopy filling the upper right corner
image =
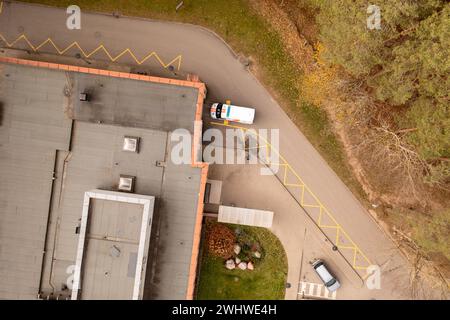
[[[450,3],[379,0],[381,30],[366,26],[368,1],[311,0],[328,63],[371,88],[378,101],[406,107],[397,117],[427,161],[450,157]],[[439,168],[438,168],[439,167]],[[439,162],[448,174],[448,161]],[[439,176],[436,174],[436,176]]]

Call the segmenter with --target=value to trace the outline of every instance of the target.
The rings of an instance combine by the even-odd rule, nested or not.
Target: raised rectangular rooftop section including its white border
[[[155,197],[85,192],[73,300],[143,298]]]

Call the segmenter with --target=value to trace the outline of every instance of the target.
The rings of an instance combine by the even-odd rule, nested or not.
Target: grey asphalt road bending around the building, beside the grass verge
[[[371,290],[370,294],[366,292],[361,296],[358,290],[355,290],[354,298],[412,298],[411,267],[407,261],[373,221],[366,208],[361,206],[291,122],[289,115],[285,114],[219,37],[193,25],[114,18],[89,13],[82,13],[81,30],[68,30],[66,19],[65,10],[4,3],[0,15],[0,33],[10,43],[24,34],[34,46],[51,38],[60,49],[77,41],[85,52],[91,52],[99,45],[103,45],[113,57],[127,48],[132,50],[138,60],[153,51],[164,63],[181,55],[181,69],[175,72],[198,74],[207,84],[209,101],[230,99],[233,104],[252,106],[256,108],[254,128],[280,129],[280,153],[371,263],[381,266],[381,289]],[[2,46],[6,45],[3,43]],[[14,43],[13,47],[29,49],[23,38]],[[55,49],[46,43],[39,51],[54,53]],[[64,54],[74,56],[77,52],[76,48],[72,48]],[[101,51],[91,58],[109,61],[107,55]],[[129,54],[124,54],[118,62],[136,64]],[[177,62],[178,60],[175,60],[175,67]],[[154,74],[167,73],[154,57],[149,58],[144,65]],[[324,239],[319,230],[316,232],[317,239]],[[345,272],[352,272],[348,271],[348,266],[342,265],[342,268],[346,270]],[[364,272],[361,270],[358,272],[360,276],[364,276]],[[355,289],[358,289],[357,285]]]

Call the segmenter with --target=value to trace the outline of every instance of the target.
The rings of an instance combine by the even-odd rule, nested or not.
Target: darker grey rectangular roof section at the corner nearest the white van
[[[74,118],[125,127],[193,132],[198,90],[153,82],[72,73]],[[78,93],[88,92],[90,101]]]

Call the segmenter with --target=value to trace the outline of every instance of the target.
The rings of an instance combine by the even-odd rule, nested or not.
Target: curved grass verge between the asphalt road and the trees
[[[52,6],[67,7],[66,0],[25,0]],[[284,48],[279,34],[256,13],[245,0],[184,1],[178,12],[179,0],[78,0],[82,10],[147,17],[202,25],[218,33],[237,52],[251,56],[257,63],[258,75],[271,89],[291,119],[321,153],[341,179],[360,196],[359,183],[354,178],[341,143],[330,129],[323,110],[305,104],[299,89],[302,72]]]

